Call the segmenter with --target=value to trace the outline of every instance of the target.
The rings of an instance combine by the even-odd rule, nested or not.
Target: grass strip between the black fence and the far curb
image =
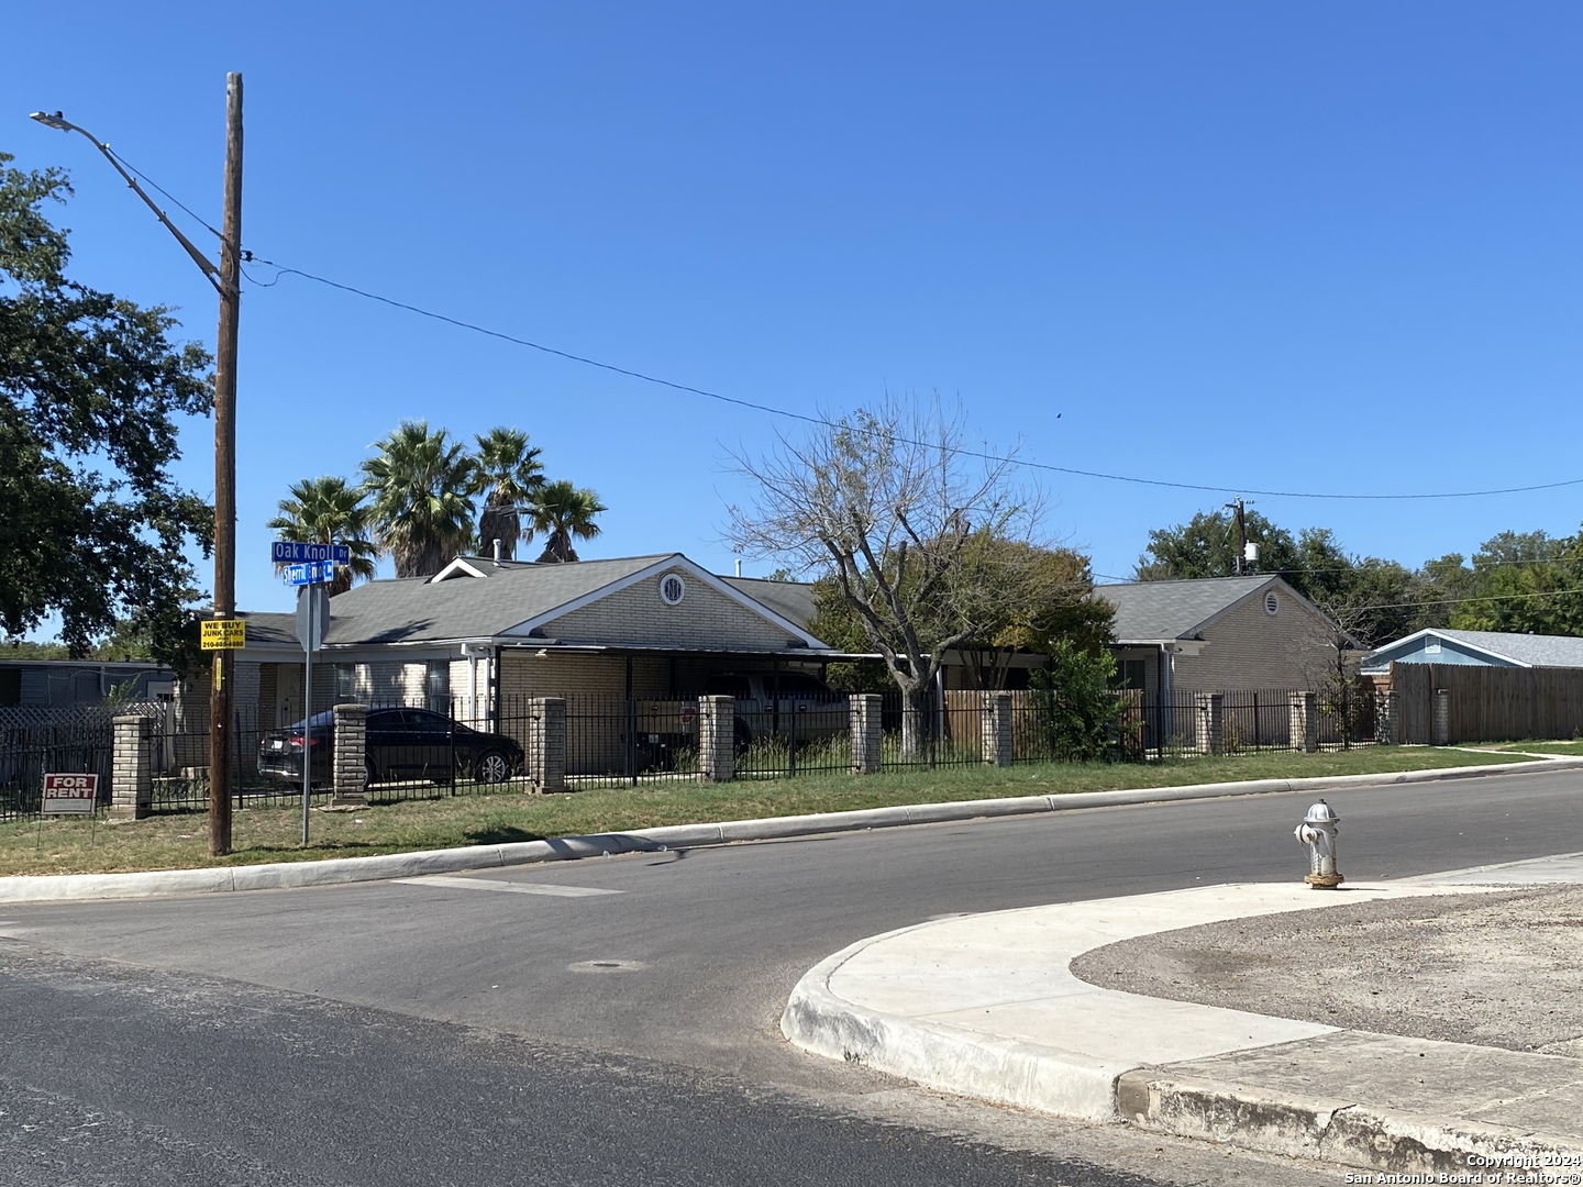
[[[636,788],[594,788],[532,796],[513,791],[442,794],[377,804],[359,812],[313,812],[312,844],[301,845],[301,809],[241,807],[236,851],[207,853],[201,813],[150,817],[97,826],[51,818],[0,825],[0,875],[192,869],[264,861],[313,861],[404,853],[457,845],[497,845],[587,832],[622,832],[659,825],[785,817],[959,799],[994,799],[1116,788],[1175,787],[1243,779],[1379,774],[1512,761],[1510,755],[1428,747],[1368,747],[1336,753],[1266,753],[1235,758],[1173,758],[1159,763],[1038,763],[1004,769],[966,766],[866,777],[701,783],[668,779]],[[1521,760],[1517,760],[1521,761]]]

